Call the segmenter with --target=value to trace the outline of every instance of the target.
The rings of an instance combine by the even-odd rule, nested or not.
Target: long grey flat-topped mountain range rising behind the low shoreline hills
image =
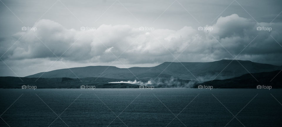
[[[113,79],[155,79],[156,77],[173,77],[175,79],[209,81],[213,80],[215,77],[216,79],[229,79],[248,73],[271,72],[281,69],[282,66],[251,61],[219,60],[214,62],[164,62],[155,67],[131,67],[128,69],[113,66],[75,67],[70,69],[58,69],[50,72],[41,72],[26,77],[104,77]]]

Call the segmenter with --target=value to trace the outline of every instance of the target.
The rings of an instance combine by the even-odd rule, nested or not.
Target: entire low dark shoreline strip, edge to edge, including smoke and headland
[[[21,88],[22,85],[37,86],[37,88],[80,88],[81,85],[95,86],[96,88],[139,88],[140,85],[155,86],[155,88],[198,88],[213,86],[213,88],[256,88],[257,85],[282,88],[282,72],[260,72],[244,74],[231,79],[213,80],[199,83],[198,81],[183,79],[110,79],[110,78],[26,78],[0,77],[0,88]],[[256,79],[258,80],[256,81]],[[275,78],[274,78],[275,77]],[[23,81],[21,81],[23,80]],[[121,82],[123,81],[123,82]],[[111,82],[111,83],[110,83]],[[149,83],[150,82],[150,83]]]

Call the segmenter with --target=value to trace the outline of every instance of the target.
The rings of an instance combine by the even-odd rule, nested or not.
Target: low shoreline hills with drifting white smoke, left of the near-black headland
[[[120,81],[124,81],[121,83]],[[37,88],[80,88],[88,85],[95,88],[139,88],[140,85],[155,86],[155,88],[192,88],[197,82],[182,79],[148,80],[110,79],[110,78],[26,78],[26,77],[0,77],[0,88],[21,88],[23,85],[36,86]]]

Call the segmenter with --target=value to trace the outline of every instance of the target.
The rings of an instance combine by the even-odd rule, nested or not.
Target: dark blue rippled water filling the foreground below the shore
[[[0,89],[0,96],[1,127],[282,126],[281,89]]]

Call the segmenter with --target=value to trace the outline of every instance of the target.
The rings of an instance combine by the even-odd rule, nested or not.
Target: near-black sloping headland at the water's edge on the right
[[[258,85],[282,88],[282,72],[280,71],[244,74],[231,79],[207,81],[194,85],[194,88],[198,88],[198,85],[213,86],[213,88],[256,88]]]

